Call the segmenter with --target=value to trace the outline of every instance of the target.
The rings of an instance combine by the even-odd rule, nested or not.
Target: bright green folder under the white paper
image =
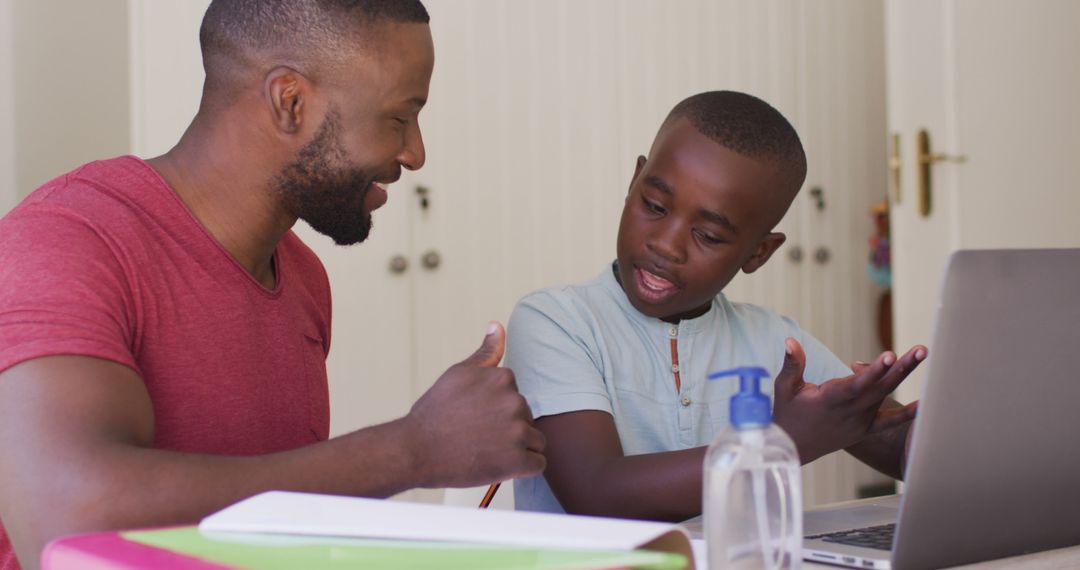
[[[654,551],[516,548],[446,542],[278,534],[206,534],[195,527],[123,532],[129,541],[249,570],[407,568],[681,570],[679,554]]]

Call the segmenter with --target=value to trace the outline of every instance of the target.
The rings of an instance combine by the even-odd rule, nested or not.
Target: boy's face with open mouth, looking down
[[[669,322],[704,314],[732,277],[784,242],[770,233],[791,203],[775,163],[735,153],[685,118],[669,121],[637,159],[619,223],[619,281],[642,313]]]

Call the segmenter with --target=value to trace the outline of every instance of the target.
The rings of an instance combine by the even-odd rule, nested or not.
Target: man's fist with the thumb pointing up
[[[543,471],[544,436],[517,392],[514,372],[498,367],[505,331],[488,327],[484,343],[455,364],[413,405],[415,450],[424,487],[469,487]]]

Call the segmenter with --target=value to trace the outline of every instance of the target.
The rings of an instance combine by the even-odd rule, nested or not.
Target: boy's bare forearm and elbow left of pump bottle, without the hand
[[[567,513],[685,520],[701,514],[705,448],[623,456],[606,411],[544,416],[544,477]]]

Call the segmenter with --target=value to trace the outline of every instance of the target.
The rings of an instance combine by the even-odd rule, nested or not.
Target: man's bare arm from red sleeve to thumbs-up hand
[[[502,342],[501,328],[488,335],[404,418],[254,457],[152,449],[153,408],[126,366],[27,361],[0,374],[0,516],[24,567],[36,568],[58,535],[191,524],[270,489],[388,497],[535,474],[543,436],[513,375],[494,367]]]

